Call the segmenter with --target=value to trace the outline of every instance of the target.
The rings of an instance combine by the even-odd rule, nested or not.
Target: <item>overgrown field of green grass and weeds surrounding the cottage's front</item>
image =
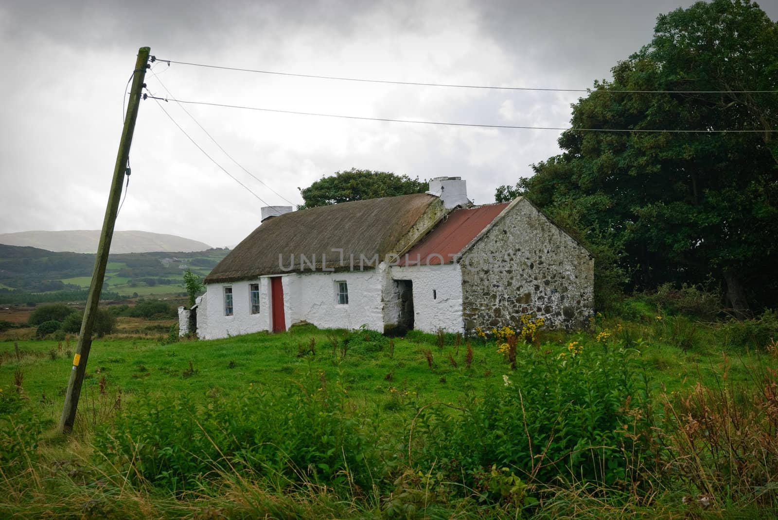
[[[725,344],[731,333],[713,326],[698,326],[689,347],[670,316],[669,325],[652,319],[598,318],[592,330],[572,335],[541,330],[537,344],[517,343],[515,368],[499,341],[471,338],[468,356],[468,342],[451,334],[389,340],[300,326],[210,341],[170,343],[162,330],[107,337],[93,342],[67,439],[54,425],[75,339],[21,341],[19,359],[6,341],[0,403],[8,408],[21,395],[29,411],[19,415],[26,425],[10,431],[0,419],[0,469],[12,490],[0,498],[0,515],[81,515],[89,503],[100,505],[93,511],[100,518],[770,518],[772,487],[757,499],[743,490],[752,489],[750,480],[719,482],[717,472],[734,472],[734,459],[703,448],[720,437],[697,438],[698,462],[683,463],[691,456],[678,436],[685,430],[675,429],[668,410],[685,410],[703,399],[699,389],[710,389],[716,402],[739,403],[741,424],[756,421],[733,438],[747,431],[751,440],[742,445],[774,451],[774,429],[757,428],[762,412],[749,415],[756,409],[748,403],[762,395],[767,368],[778,368],[775,351]],[[719,410],[713,401],[706,406]],[[622,422],[632,424],[629,431],[647,428],[647,438],[613,437],[610,428]],[[23,432],[36,424],[37,448],[25,452]],[[613,469],[594,467],[582,479],[591,466],[569,450],[584,439],[626,443],[633,455],[615,449],[602,459],[618,462]],[[657,465],[643,450],[660,445]],[[534,462],[527,461],[555,450],[582,465],[578,476],[548,465],[528,469]],[[477,453],[485,459],[468,462]],[[490,460],[498,466],[489,469]],[[624,464],[628,473],[619,473]],[[678,469],[665,473],[668,467]],[[775,470],[760,462],[748,475],[769,479]],[[608,480],[610,473],[622,476]],[[680,500],[709,492],[716,497],[710,511]]]

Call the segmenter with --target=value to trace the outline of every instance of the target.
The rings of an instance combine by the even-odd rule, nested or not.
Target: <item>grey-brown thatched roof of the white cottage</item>
[[[383,197],[293,211],[270,218],[247,236],[205,277],[205,283],[247,280],[265,274],[300,272],[300,255],[316,270],[349,269],[350,257],[383,260],[437,197],[428,194]],[[340,253],[343,250],[343,263]],[[279,260],[280,257],[280,260]],[[376,267],[364,262],[364,267]],[[359,267],[357,267],[359,268]],[[303,270],[310,271],[309,265]]]

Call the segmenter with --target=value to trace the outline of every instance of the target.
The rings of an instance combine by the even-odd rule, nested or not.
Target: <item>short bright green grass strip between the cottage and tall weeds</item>
[[[300,346],[308,347],[311,338],[316,341],[317,353],[298,357]],[[19,347],[30,354],[27,361],[20,364],[26,368],[26,392],[38,398],[44,395],[54,398],[54,409],[61,404],[71,361],[65,356],[67,344],[60,343],[19,343]],[[204,395],[213,389],[236,393],[249,385],[287,386],[313,370],[324,372],[329,379],[336,378],[340,372],[356,399],[381,403],[392,396],[391,388],[394,388],[404,396],[407,393],[407,403],[412,406],[427,400],[461,400],[465,391],[480,389],[489,379],[499,379],[501,374],[496,372],[507,371],[499,354],[486,347],[475,347],[475,359],[470,369],[454,368],[447,355],[456,354],[464,364],[461,359],[464,346],[460,347],[459,354],[450,347],[434,351],[433,358],[439,359],[433,361],[434,369],[430,371],[422,347],[428,345],[398,340],[393,357],[387,352],[347,352],[341,359],[339,354],[332,354],[328,338],[320,330],[296,330],[281,335],[257,333],[225,340],[175,344],[160,344],[159,338],[107,338],[93,342],[86,388],[105,377],[110,386],[126,393],[139,389],[166,389],[195,395]],[[71,341],[70,348],[75,350],[75,341]],[[54,360],[49,355],[52,349],[57,352]],[[196,375],[184,378],[181,374],[190,368],[190,362]],[[2,379],[12,379],[17,368],[13,363],[0,366]],[[388,381],[386,378],[390,374],[391,381]]]

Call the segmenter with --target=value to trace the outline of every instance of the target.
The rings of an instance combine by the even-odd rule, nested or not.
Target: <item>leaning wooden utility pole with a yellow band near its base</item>
[[[149,61],[150,47],[138,49],[138,60],[135,61],[135,78],[132,80],[130,101],[127,105],[127,115],[124,117],[124,130],[121,132],[119,152],[114,166],[114,180],[110,184],[108,205],[103,218],[103,232],[100,234],[100,244],[97,246],[95,267],[92,274],[92,284],[89,286],[89,296],[86,298],[86,311],[81,322],[79,344],[75,347],[73,367],[70,372],[68,391],[65,393],[65,406],[62,408],[62,418],[59,421],[59,432],[67,434],[73,429],[75,410],[79,406],[81,385],[86,373],[86,360],[89,358],[89,347],[92,346],[92,330],[97,313],[97,305],[100,304],[100,293],[103,291],[103,277],[108,263],[110,252],[110,240],[114,237],[114,224],[121,200],[121,185],[124,183],[125,169],[130,155],[132,144],[132,132],[135,131],[135,119],[138,117],[138,105],[141,99],[141,89],[145,79],[147,63]]]

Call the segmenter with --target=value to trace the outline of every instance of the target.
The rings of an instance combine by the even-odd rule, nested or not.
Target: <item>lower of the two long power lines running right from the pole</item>
[[[165,98],[160,97],[154,97],[149,96],[152,99],[161,99],[163,101],[167,101]],[[388,117],[359,117],[359,116],[345,116],[342,114],[336,114],[336,113],[317,113],[317,112],[298,112],[296,110],[278,110],[278,109],[272,109],[272,108],[260,108],[258,106],[240,106],[240,105],[227,105],[225,103],[209,103],[206,101],[184,101],[182,99],[176,99],[176,103],[186,103],[190,105],[205,105],[205,106],[219,106],[222,108],[238,108],[242,110],[258,110],[261,112],[275,112],[275,113],[292,113],[295,115],[300,116],[316,116],[316,117],[336,117],[339,119],[357,119],[357,120],[367,120],[367,121],[384,121],[388,123],[412,123],[412,124],[437,124],[437,125],[443,125],[443,126],[450,126],[450,127],[478,127],[478,128],[511,128],[511,129],[519,129],[519,130],[562,130],[562,131],[568,131],[568,130],[574,130],[574,131],[588,131],[588,132],[671,132],[671,133],[681,133],[681,134],[725,134],[725,133],[733,133],[733,134],[742,134],[742,133],[762,133],[762,132],[774,132],[778,130],[677,130],[677,129],[671,129],[671,130],[650,130],[650,129],[644,129],[644,128],[573,128],[573,127],[530,127],[530,126],[520,126],[520,125],[513,125],[513,124],[473,124],[473,123],[449,123],[445,121],[426,121],[426,120],[412,120],[412,119],[391,119]]]

